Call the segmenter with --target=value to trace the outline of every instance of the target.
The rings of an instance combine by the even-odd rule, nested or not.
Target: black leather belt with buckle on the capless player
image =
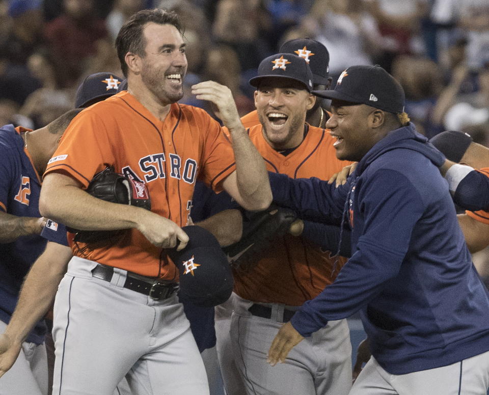
[[[114,268],[112,266],[105,266],[98,264],[95,269],[92,270],[92,275],[101,280],[111,281],[114,274]],[[128,290],[139,292],[144,295],[148,295],[151,299],[162,300],[172,296],[178,291],[178,283],[166,283],[161,280],[142,280],[135,277],[137,274],[131,274],[127,272],[126,281],[123,285]]]

